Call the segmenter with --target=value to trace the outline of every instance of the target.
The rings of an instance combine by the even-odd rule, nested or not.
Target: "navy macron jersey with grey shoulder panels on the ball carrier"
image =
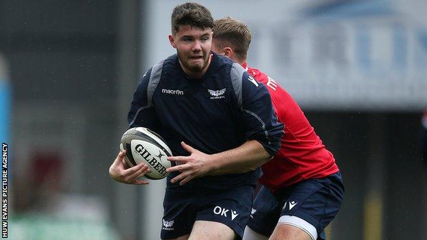
[[[239,64],[214,53],[201,79],[185,75],[177,54],[153,66],[133,94],[127,119],[129,128],[144,126],[159,133],[174,156],[190,155],[181,141],[214,154],[250,139],[257,140],[273,156],[283,135],[283,124],[277,121],[266,87]],[[169,186],[177,174],[169,174]],[[256,170],[204,176],[185,185],[231,188],[255,183],[259,175]]]

